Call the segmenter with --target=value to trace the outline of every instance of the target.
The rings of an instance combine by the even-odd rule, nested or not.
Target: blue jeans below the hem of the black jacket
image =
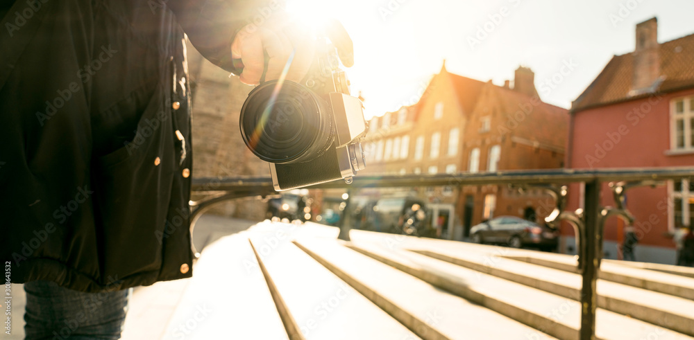
[[[83,293],[49,281],[24,284],[27,340],[120,339],[130,289]]]

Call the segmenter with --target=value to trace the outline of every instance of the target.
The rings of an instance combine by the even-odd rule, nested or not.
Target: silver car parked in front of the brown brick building
[[[509,247],[557,249],[559,231],[514,216],[500,216],[470,229],[470,238],[479,244],[507,244]]]

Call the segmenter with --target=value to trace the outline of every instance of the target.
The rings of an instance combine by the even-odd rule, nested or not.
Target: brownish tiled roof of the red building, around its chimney
[[[659,48],[660,71],[664,80],[655,90],[668,93],[694,87],[694,34],[664,42]],[[593,83],[573,102],[571,111],[649,96],[651,93],[629,95],[633,76],[634,53],[615,55]]]

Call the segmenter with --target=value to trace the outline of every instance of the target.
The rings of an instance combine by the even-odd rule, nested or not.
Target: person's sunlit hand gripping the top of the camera
[[[352,66],[352,39],[339,21],[330,21],[325,34],[337,47],[342,64]],[[244,84],[260,83],[265,66],[263,51],[269,57],[265,80],[280,78],[289,63],[286,79],[299,82],[314,60],[316,36],[312,30],[279,10],[260,26],[250,24],[242,28],[231,44],[231,55],[232,59],[240,59],[244,65],[239,75]]]

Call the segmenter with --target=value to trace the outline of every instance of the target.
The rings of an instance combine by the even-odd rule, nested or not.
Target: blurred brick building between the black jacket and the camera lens
[[[192,91],[194,177],[270,176],[241,138],[239,114],[253,87],[208,62],[187,44]],[[192,197],[196,199],[196,197]],[[250,220],[264,218],[266,204],[255,198],[223,202],[211,213]]]

